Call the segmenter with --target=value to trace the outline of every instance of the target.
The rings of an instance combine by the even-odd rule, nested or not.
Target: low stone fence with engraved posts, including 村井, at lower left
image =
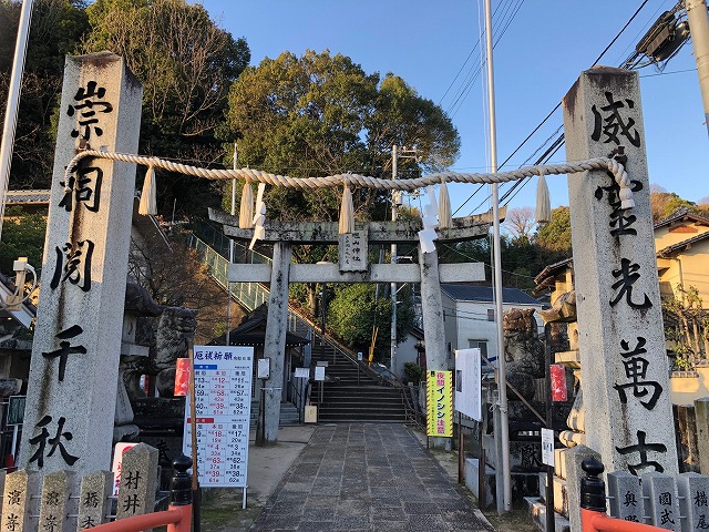
[[[61,443],[51,452],[63,452]],[[0,530],[74,532],[151,513],[157,489],[157,449],[140,443],[123,453],[117,498],[109,471],[78,478],[66,471],[0,472]]]

